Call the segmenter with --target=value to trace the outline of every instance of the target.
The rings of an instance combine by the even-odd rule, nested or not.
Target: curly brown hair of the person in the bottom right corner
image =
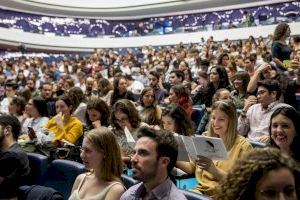
[[[300,171],[296,162],[275,148],[257,148],[236,161],[217,189],[215,200],[255,199],[257,182],[268,172],[280,168],[289,169],[299,188]],[[299,195],[299,191],[297,191]]]

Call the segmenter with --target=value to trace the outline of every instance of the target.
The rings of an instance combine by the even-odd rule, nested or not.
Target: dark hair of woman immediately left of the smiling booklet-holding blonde
[[[163,109],[162,116],[169,116],[175,121],[175,132],[180,135],[193,135],[193,122],[188,113],[179,104],[171,104]]]

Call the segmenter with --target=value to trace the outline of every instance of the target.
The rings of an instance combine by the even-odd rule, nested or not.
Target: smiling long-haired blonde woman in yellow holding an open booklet
[[[227,149],[228,160],[211,160],[199,156],[196,161],[177,162],[186,173],[195,173],[198,185],[195,192],[212,196],[219,182],[226,177],[234,162],[252,149],[251,144],[237,131],[237,113],[232,101],[217,101],[212,106],[209,137],[219,137]]]

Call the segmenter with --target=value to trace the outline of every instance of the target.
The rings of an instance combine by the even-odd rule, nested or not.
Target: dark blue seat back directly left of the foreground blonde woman
[[[70,160],[53,160],[43,185],[57,190],[67,199],[71,194],[76,177],[85,171],[83,164]]]

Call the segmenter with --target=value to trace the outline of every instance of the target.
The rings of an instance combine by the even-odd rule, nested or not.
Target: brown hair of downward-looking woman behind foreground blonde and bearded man
[[[128,120],[132,128],[138,128],[140,126],[141,118],[134,104],[130,100],[120,99],[113,105],[112,112],[110,115],[110,122],[111,125],[113,125],[117,129],[120,129],[121,127],[119,126],[118,123],[116,123],[116,117],[115,117],[115,114],[118,111],[128,116]]]

